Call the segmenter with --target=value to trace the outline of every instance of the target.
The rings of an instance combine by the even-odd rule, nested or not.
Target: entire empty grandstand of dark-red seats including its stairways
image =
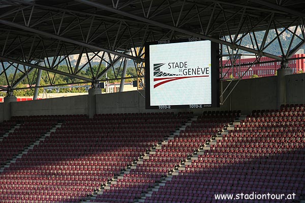
[[[1,138],[0,199],[218,202],[217,194],[255,193],[295,194],[283,202],[299,202],[304,116],[305,105],[288,105],[245,117],[240,111],[12,117]]]

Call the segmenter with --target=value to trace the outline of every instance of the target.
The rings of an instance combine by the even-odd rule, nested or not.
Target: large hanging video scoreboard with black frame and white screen
[[[219,107],[219,44],[165,40],[145,45],[146,109]]]

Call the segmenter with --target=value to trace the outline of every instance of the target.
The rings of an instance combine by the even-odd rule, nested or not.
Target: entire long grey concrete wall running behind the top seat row
[[[202,111],[217,110],[241,110],[248,114],[252,110],[277,109],[277,80],[275,77],[255,78],[241,80],[220,108],[214,109],[171,109],[170,112],[194,111],[200,114]],[[232,88],[237,81],[231,83]],[[229,81],[223,82],[225,88]],[[287,104],[305,104],[305,74],[286,76]],[[224,94],[224,97],[230,91]],[[87,114],[95,113],[131,113],[131,112],[158,112],[159,110],[145,109],[145,91],[130,91],[110,94],[95,94],[60,97],[33,101],[11,102],[11,116],[31,115],[59,115],[59,114]],[[90,102],[89,102],[90,100]],[[90,103],[90,104],[89,104]],[[91,104],[93,103],[93,104]],[[0,103],[0,122],[6,119],[7,108]],[[164,110],[162,110],[164,112]]]

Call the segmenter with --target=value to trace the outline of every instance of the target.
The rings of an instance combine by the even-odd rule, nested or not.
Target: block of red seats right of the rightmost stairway
[[[179,200],[187,199],[188,202],[218,202],[214,194],[241,192],[295,193],[295,200],[283,202],[299,202],[305,193],[305,138],[299,133],[302,129],[298,123],[293,123],[290,128],[284,127],[285,129],[283,124],[286,117],[303,115],[305,109],[303,105],[285,108],[298,109],[298,113],[287,109],[254,111],[234,130],[223,134],[222,140],[211,146],[210,150],[192,160],[192,165],[186,165],[185,171],[180,171],[165,186],[146,197],[145,202],[163,202],[165,195],[180,197]],[[277,120],[273,121],[276,124],[271,126],[268,123],[270,120],[264,120],[267,115],[276,115]],[[261,125],[249,127],[248,123],[258,121],[264,122],[270,130],[262,130]],[[302,122],[301,118],[296,122]],[[188,136],[193,134],[189,133]],[[243,199],[242,202],[255,201]],[[259,202],[279,200],[261,199]]]

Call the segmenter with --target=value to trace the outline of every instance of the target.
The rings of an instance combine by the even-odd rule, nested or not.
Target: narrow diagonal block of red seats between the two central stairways
[[[217,134],[219,130],[222,130],[224,126],[229,121],[233,121],[235,114],[229,114],[229,112],[208,112],[204,115],[197,117],[196,121],[193,121],[190,126],[186,127],[186,130],[181,130],[179,134],[175,133],[173,140],[168,140],[167,144],[163,144],[161,149],[155,149],[154,153],[150,153],[148,159],[143,159],[142,163],[137,164],[136,168],[130,170],[129,174],[125,174],[121,179],[118,179],[118,183],[112,184],[110,189],[106,189],[103,194],[98,195],[94,202],[130,202],[135,201],[139,198],[137,191],[126,191],[122,184],[132,183],[129,187],[140,187],[144,193],[147,192],[148,188],[155,185],[156,182],[163,180],[169,173],[176,170],[181,162],[186,161],[194,151],[198,150],[200,146],[205,145],[207,140],[212,138],[212,134],[204,136],[202,134],[193,134],[193,136],[186,135],[185,132],[192,131],[192,126],[207,126],[210,128],[209,131],[215,131],[214,135]],[[205,118],[209,118],[205,121]],[[216,119],[216,118],[221,119]],[[193,119],[194,120],[194,119]],[[214,120],[214,122],[212,122]],[[139,177],[141,180],[141,185],[136,184],[137,173],[144,174],[144,176]],[[158,174],[156,179],[150,180],[150,174]],[[132,176],[130,176],[132,175]],[[135,183],[136,182],[136,183]],[[136,186],[134,186],[136,185]],[[116,191],[119,196],[113,196]],[[112,197],[109,199],[109,197]]]

